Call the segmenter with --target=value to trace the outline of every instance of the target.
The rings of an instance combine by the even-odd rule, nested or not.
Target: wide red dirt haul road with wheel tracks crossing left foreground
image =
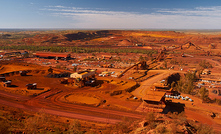
[[[39,112],[43,110],[43,112],[51,115],[110,124],[121,121],[119,118],[115,118],[115,116],[134,119],[142,118],[142,115],[137,113],[82,106],[59,101],[59,98],[66,93],[58,90],[51,90],[36,97],[26,97],[0,90],[0,103],[26,111]],[[84,111],[87,112],[85,113]]]

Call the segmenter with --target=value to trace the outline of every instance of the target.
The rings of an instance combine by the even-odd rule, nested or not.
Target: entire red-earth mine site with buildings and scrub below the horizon
[[[1,131],[220,133],[220,35],[1,31]]]

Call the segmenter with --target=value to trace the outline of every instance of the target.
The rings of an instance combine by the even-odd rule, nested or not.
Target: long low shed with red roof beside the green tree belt
[[[36,57],[39,58],[47,58],[47,59],[55,59],[55,60],[70,60],[71,55],[70,54],[65,54],[65,53],[34,53],[33,54]]]

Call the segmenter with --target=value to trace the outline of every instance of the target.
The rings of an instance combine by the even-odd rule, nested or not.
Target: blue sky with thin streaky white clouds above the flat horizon
[[[221,29],[221,0],[1,0],[8,28]]]

